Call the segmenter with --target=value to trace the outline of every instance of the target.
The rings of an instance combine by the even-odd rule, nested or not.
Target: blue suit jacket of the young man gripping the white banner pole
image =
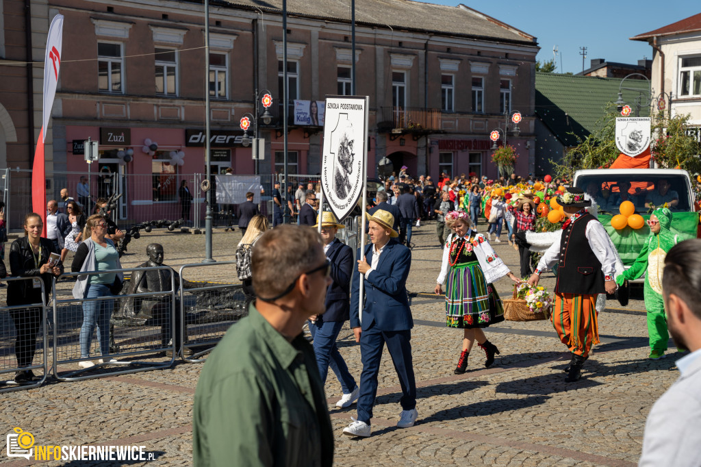
[[[372,248],[363,248],[368,264],[372,266]],[[360,248],[358,258],[362,258]],[[362,309],[362,329],[367,330],[372,323],[381,331],[404,331],[414,327],[407,296],[407,277],[411,268],[411,250],[400,245],[394,238],[385,246],[377,268],[365,279],[365,306]],[[358,299],[360,278],[358,268],[353,271],[351,287],[351,327],[360,326]]]

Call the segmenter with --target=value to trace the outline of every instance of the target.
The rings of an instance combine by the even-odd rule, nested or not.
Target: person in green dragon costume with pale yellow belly
[[[637,279],[647,270],[643,292],[648,311],[650,358],[657,360],[665,355],[669,341],[665,302],[662,299],[662,270],[665,269],[665,256],[676,245],[677,238],[669,230],[669,226],[672,225],[672,212],[667,208],[658,208],[653,214],[660,222],[660,233],[651,232],[635,262],[616,278],[616,283],[622,285],[624,280]]]

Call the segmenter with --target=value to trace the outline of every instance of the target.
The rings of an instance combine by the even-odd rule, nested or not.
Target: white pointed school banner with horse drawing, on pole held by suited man
[[[325,108],[321,188],[341,221],[365,192],[368,98],[328,97]]]

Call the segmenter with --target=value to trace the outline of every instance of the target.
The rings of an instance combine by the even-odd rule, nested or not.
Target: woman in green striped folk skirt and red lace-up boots
[[[445,222],[455,233],[448,237],[443,249],[435,292],[440,295],[442,285],[446,284],[446,325],[463,329],[463,350],[455,369],[455,374],[463,374],[475,340],[486,353],[484,366],[494,363],[494,355],[499,353],[482,331],[482,328],[504,320],[501,299],[492,283],[503,276],[509,276],[515,283],[520,281],[496,255],[486,238],[470,228],[467,212],[449,212]]]

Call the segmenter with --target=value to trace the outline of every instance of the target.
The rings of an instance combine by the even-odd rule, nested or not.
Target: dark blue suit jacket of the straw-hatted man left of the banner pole
[[[351,275],[353,274],[353,250],[341,241],[334,241],[326,252],[331,262],[331,278],[326,290],[326,312],[322,321],[347,321],[350,313]]]

